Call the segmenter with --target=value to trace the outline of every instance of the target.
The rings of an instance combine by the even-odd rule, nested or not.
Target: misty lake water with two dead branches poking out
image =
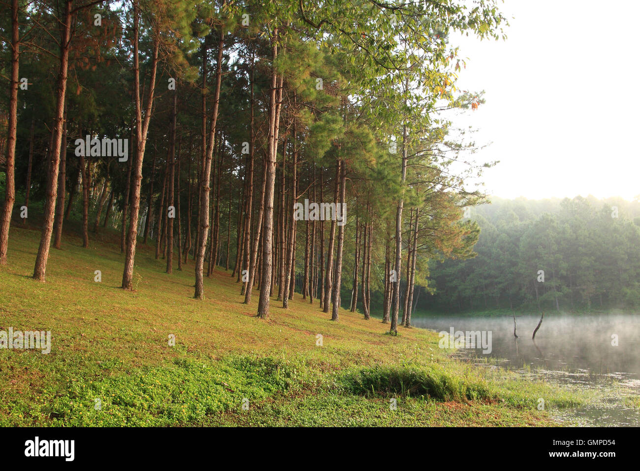
[[[569,420],[587,426],[640,426],[640,413],[623,399],[640,394],[640,313],[547,315],[534,343],[531,336],[539,320],[539,316],[516,314],[516,339],[513,317],[412,317],[414,326],[438,332],[449,333],[451,327],[463,332],[491,331],[492,351],[458,352],[467,361],[602,392],[593,404],[564,412]],[[617,346],[612,345],[614,335]]]

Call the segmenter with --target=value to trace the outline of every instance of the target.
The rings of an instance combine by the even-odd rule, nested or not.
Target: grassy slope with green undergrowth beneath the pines
[[[390,336],[347,310],[332,322],[300,293],[260,320],[258,292],[242,304],[220,268],[196,301],[193,260],[166,274],[152,244],[125,292],[119,235],[97,238],[65,235],[38,283],[40,232],[12,227],[0,331],[51,331],[52,347],[0,349],[0,426],[554,426],[589,400],[450,358],[432,331]]]

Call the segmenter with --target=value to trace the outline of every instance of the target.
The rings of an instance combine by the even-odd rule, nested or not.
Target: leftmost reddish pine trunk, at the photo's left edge
[[[67,19],[67,21],[69,20]],[[66,28],[65,31],[67,31]],[[6,152],[6,188],[4,192],[4,206],[2,208],[2,213],[0,214],[0,265],[6,265],[6,251],[9,245],[9,227],[11,226],[11,215],[13,213],[13,203],[15,202],[15,142],[18,129],[18,83],[20,66],[18,0],[12,0],[11,2],[11,47],[11,89],[9,99],[9,122]],[[60,67],[62,68],[62,66]],[[66,79],[67,71],[65,69],[65,81]],[[64,94],[62,100],[64,102]],[[31,160],[29,160],[29,163],[31,163]],[[31,172],[29,172],[29,174],[30,173]],[[27,191],[29,190],[27,189]],[[27,197],[27,199],[28,198],[29,197]]]

